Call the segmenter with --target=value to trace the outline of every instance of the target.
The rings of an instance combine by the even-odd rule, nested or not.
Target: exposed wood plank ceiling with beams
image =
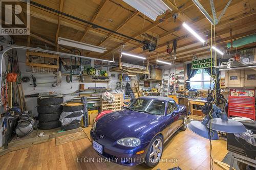
[[[154,64],[156,59],[169,60],[169,55],[166,53],[167,42],[172,45],[173,40],[177,39],[176,61],[191,60],[193,55],[198,57],[209,55],[209,47],[200,43],[181,26],[182,22],[186,21],[204,39],[210,41],[210,23],[192,1],[171,0],[170,2],[176,4],[178,10],[166,12],[155,22],[121,0],[34,0],[34,2],[139,40],[155,40],[158,37],[157,48],[151,53],[143,51],[143,44],[134,40],[34,6],[30,7],[30,37],[14,36],[18,45],[45,47],[47,44],[49,49],[67,53],[71,48],[57,44],[58,37],[63,37],[106,47],[108,50],[104,54],[83,50],[82,55],[105,59],[118,58],[122,48],[122,51],[144,56]],[[201,0],[200,2],[211,14],[209,1]],[[214,2],[217,16],[219,16],[228,0]],[[226,50],[226,42],[230,42],[231,39],[256,33],[255,7],[256,1],[232,0],[216,26],[216,45],[219,48]],[[176,21],[172,17],[174,13],[178,13]],[[230,36],[230,29],[232,36]]]

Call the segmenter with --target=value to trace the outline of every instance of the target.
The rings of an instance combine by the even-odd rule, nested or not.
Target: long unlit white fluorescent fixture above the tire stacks
[[[81,48],[83,50],[88,50],[88,51],[93,51],[98,53],[104,53],[106,51],[106,48],[103,48],[103,47],[99,47],[96,45],[91,45],[91,44],[87,44],[79,41],[73,41],[71,39],[61,38],[61,37],[59,37],[58,39],[58,44],[72,46],[75,48]]]

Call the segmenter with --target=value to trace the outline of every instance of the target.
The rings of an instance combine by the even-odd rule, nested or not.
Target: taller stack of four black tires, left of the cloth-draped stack
[[[39,129],[48,130],[60,127],[59,116],[63,110],[61,103],[63,103],[63,96],[37,98]]]

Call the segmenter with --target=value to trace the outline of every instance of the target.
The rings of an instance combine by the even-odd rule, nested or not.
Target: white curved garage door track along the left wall
[[[68,53],[61,53],[61,52],[54,52],[54,51],[50,51],[50,50],[43,50],[43,49],[39,49],[39,48],[33,48],[33,47],[27,47],[27,46],[19,46],[19,45],[12,45],[9,46],[7,48],[5,48],[4,51],[2,51],[2,55],[1,55],[1,78],[0,78],[0,87],[2,87],[2,77],[3,77],[3,59],[4,59],[4,55],[12,49],[15,48],[19,48],[19,49],[25,49],[25,50],[33,50],[33,51],[37,51],[37,52],[45,52],[45,53],[52,53],[52,54],[58,54],[61,56],[68,56],[68,57],[79,57],[79,58],[84,58],[84,59],[93,59],[93,60],[100,60],[100,61],[106,61],[106,62],[115,62],[114,58],[113,61],[111,60],[103,60],[103,59],[97,59],[97,58],[92,58],[92,57],[85,57],[85,56],[79,56],[79,55],[75,55],[75,54],[68,54]]]

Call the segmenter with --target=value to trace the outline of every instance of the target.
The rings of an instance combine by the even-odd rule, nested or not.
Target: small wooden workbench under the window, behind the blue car
[[[205,102],[206,101],[197,99],[188,99],[188,105],[191,115],[196,117],[204,117],[201,107],[204,106]]]

